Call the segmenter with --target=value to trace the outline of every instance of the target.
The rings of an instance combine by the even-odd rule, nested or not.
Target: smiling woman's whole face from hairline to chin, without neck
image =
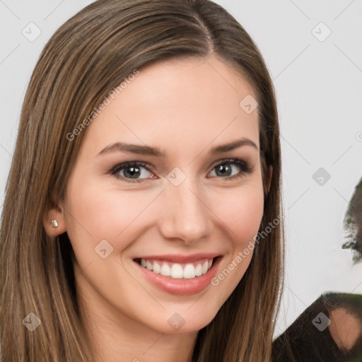
[[[256,95],[214,56],[147,66],[119,89],[82,131],[57,212],[77,290],[91,319],[196,331],[242,279],[262,221]]]

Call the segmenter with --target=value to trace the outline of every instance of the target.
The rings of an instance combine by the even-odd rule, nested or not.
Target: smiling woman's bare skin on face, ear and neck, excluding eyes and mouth
[[[69,235],[76,288],[98,361],[122,356],[190,362],[197,331],[213,320],[245,274],[252,252],[218,286],[174,296],[150,284],[132,259],[217,252],[223,255],[217,275],[257,235],[264,197],[259,128],[257,110],[247,114],[239,106],[246,95],[257,98],[245,78],[214,55],[207,62],[158,62],[140,69],[87,127],[64,202],[45,214],[44,226],[49,235]],[[243,137],[257,149],[209,154]],[[117,141],[158,147],[165,158],[119,151],[97,156]],[[230,174],[215,168],[225,158],[246,160],[252,172],[226,161],[231,175],[241,174],[227,180]],[[126,161],[144,161],[154,170],[140,166],[140,183],[110,174]],[[186,175],[177,187],[167,178],[175,167]],[[119,175],[127,177],[125,171]],[[50,226],[53,218],[57,228]],[[100,240],[113,247],[105,259],[94,250]],[[185,320],[177,331],[168,324],[174,313]]]

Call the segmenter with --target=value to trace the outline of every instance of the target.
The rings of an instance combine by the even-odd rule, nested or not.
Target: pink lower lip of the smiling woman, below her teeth
[[[157,286],[162,291],[175,296],[192,296],[193,294],[203,291],[206,286],[211,284],[211,279],[214,278],[221,259],[221,256],[214,258],[211,268],[206,274],[196,276],[193,279],[173,279],[170,276],[153,273],[153,271],[141,267],[137,262],[134,263],[139,267],[141,273],[146,276],[146,279],[151,281],[154,286]]]

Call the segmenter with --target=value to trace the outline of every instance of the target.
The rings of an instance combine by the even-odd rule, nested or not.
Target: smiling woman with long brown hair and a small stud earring
[[[25,95],[1,226],[4,361],[271,361],[280,175],[267,67],[221,6],[84,8]]]

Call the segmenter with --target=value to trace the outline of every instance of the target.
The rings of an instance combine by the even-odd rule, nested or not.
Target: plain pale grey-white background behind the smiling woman
[[[37,58],[54,31],[91,2],[0,1],[0,211]],[[276,89],[287,242],[278,335],[321,293],[362,293],[362,262],[354,265],[351,251],[341,249],[346,207],[362,176],[362,1],[216,2],[255,40]],[[41,30],[33,42],[22,34],[30,22]],[[321,22],[332,31],[323,41],[315,37],[327,34]],[[324,185],[312,177],[319,168],[331,175]]]

